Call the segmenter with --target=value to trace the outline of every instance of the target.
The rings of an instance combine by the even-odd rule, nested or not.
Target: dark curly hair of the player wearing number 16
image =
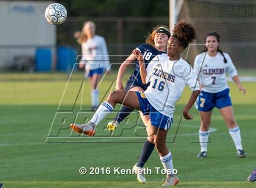
[[[172,36],[179,39],[180,44],[185,49],[189,43],[196,39],[196,31],[192,24],[188,24],[184,19],[182,19],[175,24],[174,29],[172,30]]]

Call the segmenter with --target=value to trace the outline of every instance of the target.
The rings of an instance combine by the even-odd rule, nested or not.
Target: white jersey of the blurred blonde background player
[[[102,36],[94,35],[93,38],[82,43],[81,62],[87,63],[88,70],[109,67],[107,44]]]

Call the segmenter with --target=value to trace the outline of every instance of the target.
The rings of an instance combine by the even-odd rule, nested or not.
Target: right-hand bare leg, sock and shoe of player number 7
[[[233,114],[233,107],[232,106],[223,107],[219,109],[219,112],[221,112],[221,115],[223,116],[227,124],[227,127],[229,129],[229,134],[233,139],[233,142],[235,143],[235,147],[237,151],[236,156],[238,156],[239,158],[245,157],[246,153],[243,150],[240,128],[236,124],[235,117]]]

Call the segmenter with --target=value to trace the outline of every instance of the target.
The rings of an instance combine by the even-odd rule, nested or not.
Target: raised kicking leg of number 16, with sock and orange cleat
[[[103,102],[87,124],[71,124],[70,127],[76,132],[94,136],[96,126],[111,113],[116,104],[124,104],[133,109],[140,109],[140,104],[136,92],[115,91],[108,95],[107,101]]]

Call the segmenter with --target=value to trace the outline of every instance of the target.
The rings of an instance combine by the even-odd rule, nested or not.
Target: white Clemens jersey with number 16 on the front
[[[151,82],[144,92],[150,104],[163,115],[173,117],[185,85],[199,90],[193,69],[185,60],[170,61],[166,54],[157,55],[147,67],[146,81]]]

